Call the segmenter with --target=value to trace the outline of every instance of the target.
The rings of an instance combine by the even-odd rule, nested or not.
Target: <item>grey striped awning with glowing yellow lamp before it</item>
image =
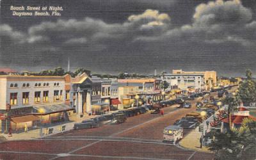
[[[61,111],[70,111],[74,108],[66,104],[52,104],[52,105],[45,105],[45,106],[34,106],[33,107],[33,114],[36,115],[47,115],[50,113],[58,113]]]

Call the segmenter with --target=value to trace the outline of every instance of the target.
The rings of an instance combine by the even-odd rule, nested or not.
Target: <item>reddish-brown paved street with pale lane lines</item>
[[[212,154],[162,143],[163,128],[195,111],[195,102],[192,106],[170,106],[164,108],[164,116],[146,113],[123,124],[68,131],[42,140],[6,141],[0,143],[0,159],[212,159]]]

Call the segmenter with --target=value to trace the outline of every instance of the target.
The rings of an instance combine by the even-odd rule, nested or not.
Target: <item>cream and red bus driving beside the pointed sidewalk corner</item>
[[[164,128],[163,141],[177,144],[183,138],[183,128],[177,125],[169,125]]]

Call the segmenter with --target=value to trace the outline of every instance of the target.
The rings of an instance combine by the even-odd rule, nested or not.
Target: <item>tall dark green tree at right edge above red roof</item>
[[[237,98],[241,99],[244,104],[256,102],[256,81],[252,79],[251,70],[246,70],[246,80],[240,84]]]

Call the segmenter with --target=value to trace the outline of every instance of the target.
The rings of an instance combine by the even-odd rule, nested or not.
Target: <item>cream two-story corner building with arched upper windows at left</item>
[[[0,76],[1,132],[68,120],[63,76]]]

